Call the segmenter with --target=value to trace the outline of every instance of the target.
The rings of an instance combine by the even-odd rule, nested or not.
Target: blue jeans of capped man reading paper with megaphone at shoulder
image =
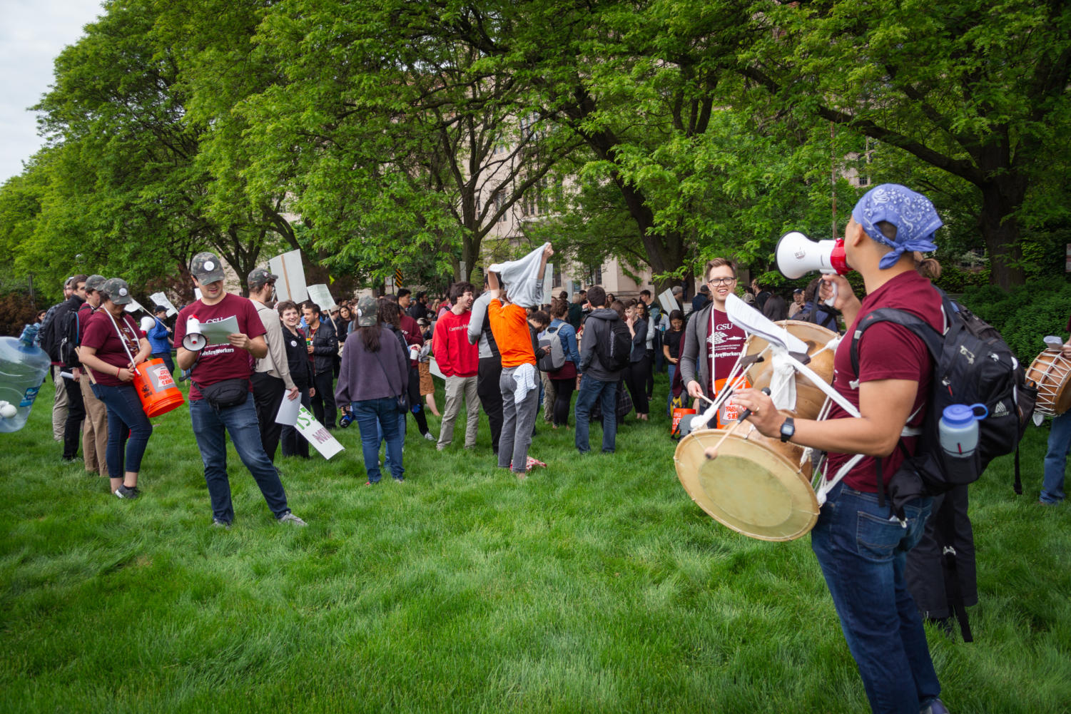
[[[260,443],[260,427],[252,393],[244,402],[223,409],[213,409],[205,399],[191,401],[190,421],[193,422],[197,447],[200,449],[201,461],[205,464],[205,482],[212,501],[213,518],[225,523],[235,519],[235,508],[230,503],[230,481],[227,478],[228,434],[238,457],[253,474],[271,512],[276,518],[290,513],[278,471],[268,459]]]

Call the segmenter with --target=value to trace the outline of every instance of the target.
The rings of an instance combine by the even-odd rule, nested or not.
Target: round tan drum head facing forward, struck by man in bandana
[[[723,526],[761,541],[791,541],[814,528],[818,500],[799,468],[735,432],[708,459],[706,449],[724,435],[703,429],[677,444],[677,477],[692,500]]]

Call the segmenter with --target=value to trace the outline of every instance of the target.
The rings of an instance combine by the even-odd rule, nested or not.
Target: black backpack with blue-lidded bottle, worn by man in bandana
[[[904,516],[904,504],[911,499],[974,483],[993,458],[1016,451],[1038,394],[1026,384],[1023,367],[1000,333],[940,290],[937,292],[948,323],[944,335],[911,313],[883,307],[863,317],[851,336],[851,368],[857,377],[859,339],[878,322],[910,330],[925,343],[934,362],[929,411],[915,455],[907,453],[901,440],[899,449],[907,458],[885,485],[880,459],[877,462],[878,500],[884,504],[887,493],[892,512],[900,518]],[[940,446],[938,422],[945,407],[953,404],[983,404],[989,410],[978,423],[978,447],[968,457],[952,457]]]

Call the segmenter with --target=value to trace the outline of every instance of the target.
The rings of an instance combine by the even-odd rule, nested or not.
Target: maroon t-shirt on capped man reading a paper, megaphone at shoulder
[[[260,321],[260,316],[257,315],[257,308],[253,305],[253,301],[240,298],[239,295],[232,295],[229,292],[214,305],[206,305],[198,300],[183,307],[175,323],[176,345],[181,345],[182,338],[186,336],[186,321],[191,317],[196,317],[200,323],[218,322],[226,320],[228,317],[235,317],[238,320],[238,332],[243,333],[251,339],[267,332],[263,322]],[[253,374],[253,367],[250,362],[250,353],[246,350],[238,349],[229,343],[226,345],[209,345],[201,350],[200,356],[197,358],[197,362],[194,364],[194,370],[191,375],[190,400],[193,401],[201,398],[201,393],[197,389],[197,384],[208,386],[209,384],[222,382],[225,379],[248,379],[250,375]],[[250,391],[253,391],[252,383],[250,384]]]

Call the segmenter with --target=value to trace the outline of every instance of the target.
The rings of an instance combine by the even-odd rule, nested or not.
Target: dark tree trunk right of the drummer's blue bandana
[[[978,229],[990,259],[990,284],[1005,290],[1023,285],[1026,275],[1020,264],[1023,252],[1014,214],[1026,197],[1026,180],[1014,173],[997,176],[979,187],[982,210],[978,214]]]

